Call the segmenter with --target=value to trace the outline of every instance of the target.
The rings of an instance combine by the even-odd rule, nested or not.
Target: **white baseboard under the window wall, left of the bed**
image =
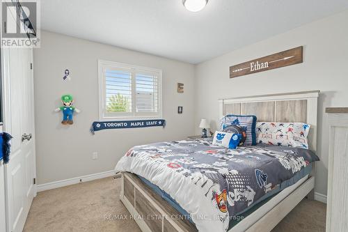
[[[101,173],[95,173],[95,174],[80,176],[80,177],[66,179],[66,180],[58,180],[58,181],[54,181],[51,183],[45,183],[42,185],[36,185],[36,190],[37,190],[37,192],[42,192],[45,190],[53,190],[53,189],[56,189],[58,187],[74,185],[74,184],[87,182],[90,180],[97,180],[97,179],[101,179],[101,178],[106,178],[106,177],[114,176],[114,175],[115,175],[115,171],[113,171],[113,170],[112,171],[104,171]]]

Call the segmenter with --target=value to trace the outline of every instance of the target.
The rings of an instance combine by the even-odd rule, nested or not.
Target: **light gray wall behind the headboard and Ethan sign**
[[[325,107],[348,103],[348,11],[238,49],[196,66],[196,124],[212,120],[216,128],[219,98],[320,90],[315,191],[326,194],[329,128]],[[304,46],[303,63],[234,79],[229,67],[292,47]],[[196,128],[196,133],[199,129]]]

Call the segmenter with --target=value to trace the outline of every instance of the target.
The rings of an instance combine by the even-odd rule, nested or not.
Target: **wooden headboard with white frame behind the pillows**
[[[258,121],[308,123],[308,144],[317,150],[317,99],[319,91],[280,93],[219,100],[219,118],[227,114],[255,115]]]

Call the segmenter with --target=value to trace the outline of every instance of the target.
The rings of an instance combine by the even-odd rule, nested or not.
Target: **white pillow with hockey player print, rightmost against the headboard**
[[[308,149],[310,125],[306,123],[256,123],[258,144]]]

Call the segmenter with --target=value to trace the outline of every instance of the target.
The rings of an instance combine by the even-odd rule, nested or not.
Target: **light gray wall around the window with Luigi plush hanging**
[[[110,171],[132,146],[193,134],[193,65],[47,31],[42,31],[41,36],[41,47],[34,49],[39,185]],[[90,134],[91,123],[98,119],[97,59],[163,70],[163,118],[167,121],[164,129],[148,127]],[[65,68],[71,72],[70,82],[63,82]],[[177,93],[177,82],[184,83],[184,93]],[[54,112],[64,93],[71,93],[75,106],[81,109],[72,126],[61,125],[61,112]],[[177,106],[184,107],[183,114],[177,114]],[[92,159],[95,151],[99,153],[97,160]]]

